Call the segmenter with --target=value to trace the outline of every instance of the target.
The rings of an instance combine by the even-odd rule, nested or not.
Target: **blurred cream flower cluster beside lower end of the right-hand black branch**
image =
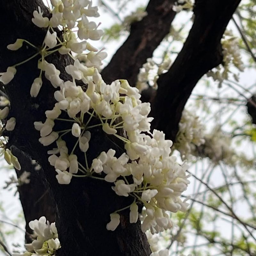
[[[184,109],[179,123],[179,132],[174,148],[180,152],[182,159],[189,159],[196,146],[204,144],[204,125],[199,117]]]

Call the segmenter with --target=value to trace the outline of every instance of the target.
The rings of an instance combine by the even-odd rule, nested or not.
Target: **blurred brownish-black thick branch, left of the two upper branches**
[[[174,2],[175,0],[149,1],[146,9],[148,15],[132,24],[130,36],[102,70],[101,75],[107,83],[127,79],[132,86],[136,84],[140,68],[170,31],[176,14],[172,11]]]

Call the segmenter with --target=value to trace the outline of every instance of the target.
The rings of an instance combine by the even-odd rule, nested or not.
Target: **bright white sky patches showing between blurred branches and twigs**
[[[123,10],[124,12],[119,12],[118,8],[115,6],[115,4],[118,3],[118,1],[105,0],[104,2],[106,4],[108,4],[109,6],[111,6],[111,7],[114,6],[113,7],[114,12],[118,13],[120,15],[121,19],[123,19],[126,15],[129,15],[132,11],[135,11],[137,9],[137,7],[145,6],[148,3],[148,1],[146,1],[146,0],[136,0],[136,1],[133,1],[132,4],[128,5],[129,8]],[[94,4],[97,4],[97,2],[94,1]],[[118,21],[118,19],[116,19],[116,17],[114,17],[113,15],[112,16],[109,15],[109,12],[106,11],[106,9],[104,10],[104,8],[100,9],[100,15],[101,16],[97,19],[90,19],[90,20],[94,20],[96,23],[101,22],[100,28],[109,28],[111,25],[113,25],[114,23],[116,23]],[[187,14],[185,12],[179,13],[177,15],[177,17],[175,18],[174,22],[173,22],[174,27],[179,27],[180,23],[183,22],[184,20],[189,20],[190,16],[191,16],[191,14]],[[188,22],[188,26],[186,27],[187,31],[189,31],[190,26],[191,26],[191,22]],[[231,23],[229,24],[229,28],[232,28],[233,32],[235,34],[237,33],[236,28],[234,28],[234,26]],[[127,32],[126,36],[128,36],[128,32]],[[98,47],[99,49],[101,49],[102,47],[106,48],[105,51],[108,53],[108,58],[106,60],[104,60],[104,65],[106,65],[108,63],[108,61],[111,60],[111,57],[113,56],[113,54],[116,52],[116,50],[125,41],[126,36],[121,36],[119,41],[113,41],[113,42],[110,42],[108,44],[103,44],[102,42],[93,41],[93,45]],[[159,49],[161,49],[161,47],[163,47],[163,45],[160,45]],[[175,43],[174,47],[175,47],[175,50],[177,52],[179,52],[181,47],[182,47],[182,44]],[[157,56],[157,51],[155,52],[155,55]],[[244,56],[244,58],[246,58],[246,57]],[[173,60],[175,59],[174,55],[173,55],[172,59]],[[156,57],[156,60],[157,60],[157,57]],[[129,60],[127,60],[127,61],[129,61]],[[113,72],[115,72],[115,71],[113,70]],[[242,85],[244,85],[245,87],[248,88],[250,85],[254,84],[255,82],[256,82],[255,69],[246,68],[243,73],[240,73],[240,84],[242,84]],[[215,82],[215,84],[216,84],[215,88],[213,88],[211,86],[211,89],[207,90],[203,86],[203,83],[204,82],[201,82],[196,86],[196,88],[193,91],[193,94],[206,94],[209,97],[216,97],[216,96],[218,96],[218,94],[221,91],[226,90],[225,85],[223,85],[222,88],[218,88],[218,83],[216,83],[216,82]],[[211,83],[213,83],[212,80],[211,80]],[[240,89],[240,91],[242,92],[241,89]],[[226,96],[227,97],[236,97],[236,95],[237,94],[234,93],[234,91],[232,91],[230,89],[226,90]],[[247,96],[249,96],[249,95],[247,95]],[[194,101],[190,100],[188,102],[188,105],[191,102],[194,102]],[[217,111],[219,107],[220,107],[220,105],[218,105],[217,103],[214,103],[213,107],[212,107],[212,110]],[[194,109],[195,109],[195,111],[197,111],[196,113],[198,115],[200,115],[200,109],[199,110],[196,109],[196,108],[194,108]],[[244,118],[244,113],[245,113],[245,108],[243,108],[243,107],[241,107],[240,110],[237,111],[236,119],[237,119],[238,122],[241,122],[241,120]],[[224,118],[226,118],[225,114],[220,115],[219,121],[221,122],[222,120],[224,120]],[[209,120],[209,122],[207,123],[208,130],[211,129],[215,123],[216,123],[216,120],[214,120],[214,119]],[[247,149],[247,147],[248,147],[248,143],[245,141],[244,143],[242,143],[242,146],[239,147],[239,150],[245,150],[245,149]],[[252,152],[251,149],[250,149],[250,152]],[[248,150],[246,150],[246,153],[248,153]],[[204,173],[208,164],[209,164],[209,161],[204,160],[203,164],[199,163],[196,166],[197,167],[197,171],[196,171],[197,174],[200,173],[198,175],[199,177]],[[4,168],[5,165],[6,164],[5,164],[4,161],[0,162],[0,166],[3,167],[0,170],[0,172],[1,172],[0,188],[4,187],[4,185],[5,185],[4,181],[8,180],[9,179],[8,177],[12,176],[13,174],[15,175],[14,171],[6,170]],[[190,168],[190,171],[194,173],[195,170],[196,170],[195,169],[196,167],[195,167],[195,165],[192,166]],[[223,184],[224,180],[221,177],[222,176],[220,174],[220,170],[216,169],[212,174],[210,185],[213,187],[213,186],[216,186],[216,185]],[[188,186],[188,190],[184,194],[185,195],[190,195],[190,194],[195,193],[197,191],[198,185],[199,185],[198,182],[191,183]],[[204,190],[204,189],[205,188],[202,185],[201,186],[201,191]],[[20,214],[20,212],[22,211],[20,201],[18,199],[18,194],[16,196],[13,196],[14,191],[15,191],[15,189],[12,189],[11,191],[8,191],[6,189],[1,189],[0,190],[0,201],[3,202],[3,208],[5,209],[5,215],[0,212],[0,220],[4,220],[4,221],[8,221],[8,222],[13,223],[13,221],[15,219],[17,219],[17,215]],[[239,192],[234,191],[234,193],[239,193]],[[248,217],[247,216],[248,209],[245,207],[245,205],[242,202],[236,206],[235,210],[236,210],[236,213],[239,216]],[[223,222],[218,222],[218,225],[219,225],[219,228],[222,230],[222,232],[224,232],[227,235],[227,237],[231,236],[230,224],[228,224],[227,221],[223,220]],[[4,228],[4,230],[12,229],[11,226],[9,226],[9,225],[2,226],[1,223],[0,223],[0,228],[2,229],[2,227]],[[25,222],[24,221],[22,223],[20,223],[20,227],[24,229],[24,227],[25,227]],[[192,239],[192,237],[191,237],[191,241],[189,243],[193,244],[193,242],[194,242],[194,239]],[[17,230],[14,236],[9,236],[8,247],[9,247],[10,251],[12,251],[12,248],[13,248],[12,244],[13,243],[14,244],[19,243],[19,244],[22,245],[24,243],[24,233]],[[1,252],[0,252],[0,255],[4,255],[4,254],[1,254]],[[172,254],[172,255],[176,255],[176,254]]]

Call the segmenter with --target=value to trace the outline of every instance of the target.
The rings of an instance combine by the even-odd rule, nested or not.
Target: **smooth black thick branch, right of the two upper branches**
[[[197,0],[195,21],[171,69],[158,79],[152,127],[175,140],[183,108],[198,80],[222,62],[220,39],[241,0]]]

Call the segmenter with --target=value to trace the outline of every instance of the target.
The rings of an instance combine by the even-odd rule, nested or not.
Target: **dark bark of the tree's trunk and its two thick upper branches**
[[[157,113],[154,127],[164,130],[168,138],[175,138],[181,112],[197,81],[205,72],[221,62],[220,38],[239,2],[196,1],[193,28],[170,71],[160,77],[159,91],[153,105],[154,114]],[[38,5],[44,13],[47,13],[47,10],[40,0],[0,0],[0,3],[3,31],[0,38],[0,72],[4,72],[7,67],[35,53],[35,50],[26,46],[17,52],[11,52],[6,49],[7,44],[15,42],[17,38],[23,38],[38,47],[41,46],[46,31],[37,28],[31,18]],[[132,26],[131,35],[123,48],[120,48],[108,67],[102,71],[107,82],[124,78],[135,84],[139,68],[152,56],[153,50],[169,31],[175,15],[172,4],[172,0],[150,1],[148,16]],[[30,202],[30,206],[35,205],[38,195],[43,195],[49,187],[49,193],[42,199],[45,206],[38,211],[42,213],[40,215],[46,215],[50,207],[49,217],[54,219],[55,206],[51,198],[54,199],[56,224],[62,245],[58,255],[148,256],[150,249],[146,236],[142,234],[139,222],[129,223],[128,212],[121,212],[120,226],[114,232],[106,229],[109,214],[128,205],[130,198],[116,196],[111,184],[101,180],[73,178],[69,185],[58,184],[55,170],[48,163],[47,150],[51,147],[43,147],[38,142],[39,132],[34,129],[33,124],[35,121],[43,121],[45,110],[52,109],[55,103],[52,97],[55,89],[46,79],[43,79],[43,87],[38,97],[30,97],[30,86],[39,75],[37,60],[33,59],[17,67],[15,78],[5,86],[11,101],[9,117],[16,118],[16,127],[8,134],[9,147],[15,147],[13,154],[20,156],[23,168],[27,166],[30,158],[36,159],[42,166],[42,175],[36,178],[37,196],[31,196],[34,190],[32,187],[27,187],[29,191],[26,191],[25,187],[24,191],[20,191],[26,220],[29,221],[36,215],[29,213],[29,203],[26,201]],[[70,58],[54,54],[49,56],[47,61],[61,71],[62,79],[69,80],[64,67],[72,62]],[[57,127],[62,125],[56,124]],[[90,141],[89,162],[101,151],[108,148],[117,149],[112,140],[101,130],[95,129]],[[118,150],[118,153],[121,154],[122,151]],[[32,168],[29,170],[33,172]],[[46,186],[42,182],[44,179],[47,181]]]

